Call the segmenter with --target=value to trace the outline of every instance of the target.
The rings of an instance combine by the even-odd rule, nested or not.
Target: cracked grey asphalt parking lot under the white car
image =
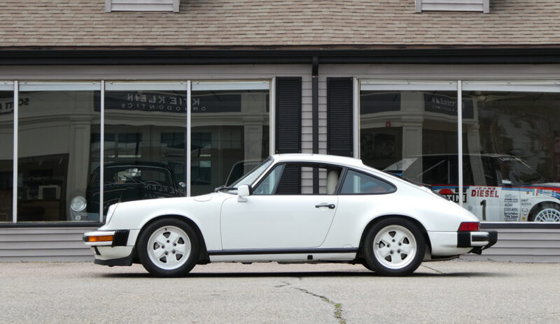
[[[560,265],[447,261],[410,277],[361,265],[0,263],[1,323],[560,323]]]

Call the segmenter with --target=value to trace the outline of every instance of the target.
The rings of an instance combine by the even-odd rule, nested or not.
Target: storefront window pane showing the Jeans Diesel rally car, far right
[[[464,207],[481,221],[558,222],[560,94],[511,88],[463,91]]]

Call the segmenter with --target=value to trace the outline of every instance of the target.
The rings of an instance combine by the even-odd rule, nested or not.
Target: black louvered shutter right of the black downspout
[[[353,79],[327,78],[327,153],[353,156]]]

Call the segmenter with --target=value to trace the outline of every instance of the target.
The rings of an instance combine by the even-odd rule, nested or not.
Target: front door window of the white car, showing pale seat
[[[334,195],[342,168],[314,163],[283,163],[253,189],[253,195]]]

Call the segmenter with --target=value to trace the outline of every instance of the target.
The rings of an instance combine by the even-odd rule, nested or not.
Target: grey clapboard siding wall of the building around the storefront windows
[[[558,65],[321,65],[319,153],[327,151],[327,78],[370,80],[557,80]],[[0,80],[255,80],[302,77],[302,152],[312,152],[311,65],[3,66]],[[81,241],[92,228],[0,228],[0,261],[92,260]],[[467,260],[559,262],[560,229],[498,229],[498,244]]]

